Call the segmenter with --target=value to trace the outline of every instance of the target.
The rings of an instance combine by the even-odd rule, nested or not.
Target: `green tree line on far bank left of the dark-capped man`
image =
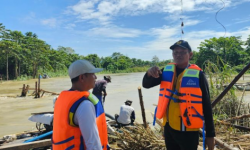
[[[152,61],[129,58],[119,52],[108,57],[97,54],[82,56],[70,47],[58,46],[53,49],[35,33],[11,31],[0,23],[0,74],[5,80],[18,79],[21,76],[38,77],[38,74],[67,73],[69,65],[78,59],[87,59],[95,67],[104,68],[110,73],[145,71],[153,65],[164,66],[167,61],[159,61],[153,56]]]

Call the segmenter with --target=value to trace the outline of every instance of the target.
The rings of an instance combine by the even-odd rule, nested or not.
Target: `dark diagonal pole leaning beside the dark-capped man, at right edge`
[[[214,107],[231,89],[231,87],[241,78],[241,76],[250,68],[250,63],[246,65],[245,68],[233,79],[233,81],[225,88],[225,90],[212,102],[212,107]]]

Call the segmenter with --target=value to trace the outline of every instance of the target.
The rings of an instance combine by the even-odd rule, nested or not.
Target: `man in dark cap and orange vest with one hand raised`
[[[205,143],[213,150],[215,131],[206,77],[197,65],[189,64],[193,53],[187,41],[180,40],[170,49],[174,63],[161,70],[154,66],[143,78],[144,88],[160,84],[156,117],[163,118],[166,147],[197,150],[198,130],[205,126]]]

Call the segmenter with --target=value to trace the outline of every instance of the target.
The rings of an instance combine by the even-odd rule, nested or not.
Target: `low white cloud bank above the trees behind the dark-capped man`
[[[122,46],[117,48],[122,53],[136,54],[137,58],[144,58],[146,60],[151,60],[154,55],[158,56],[160,60],[171,59],[171,51],[169,47],[180,40],[181,38],[176,36],[179,35],[177,28],[171,28],[164,26],[162,28],[154,28],[148,31],[149,34],[156,36],[155,40],[142,43],[141,46]],[[243,41],[246,41],[250,33],[250,26],[236,32],[228,32],[227,36],[241,36]],[[189,42],[193,50],[198,50],[200,43],[205,39],[210,39],[212,37],[222,37],[224,32],[217,32],[214,30],[202,30],[193,31],[184,34],[183,40]]]

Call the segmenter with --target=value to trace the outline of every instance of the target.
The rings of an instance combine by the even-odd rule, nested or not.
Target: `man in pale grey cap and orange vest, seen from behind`
[[[72,87],[62,91],[55,103],[53,150],[109,149],[102,104],[89,92],[95,86],[95,73],[100,71],[87,60],[77,60],[69,66]]]

